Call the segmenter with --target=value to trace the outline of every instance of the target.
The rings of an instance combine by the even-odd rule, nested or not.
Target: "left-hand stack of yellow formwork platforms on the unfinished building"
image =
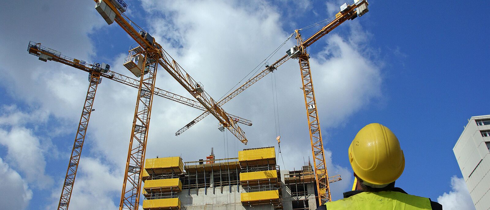
[[[184,163],[180,157],[147,159],[141,177],[145,183],[144,210],[180,210],[177,193],[182,191],[180,176]]]

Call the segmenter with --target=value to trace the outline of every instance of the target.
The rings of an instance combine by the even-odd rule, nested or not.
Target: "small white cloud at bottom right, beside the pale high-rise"
[[[475,210],[463,178],[451,177],[451,188],[449,193],[444,192],[437,198],[444,210]]]

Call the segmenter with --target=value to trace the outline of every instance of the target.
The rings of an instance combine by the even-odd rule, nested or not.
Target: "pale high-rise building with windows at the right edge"
[[[471,117],[453,151],[476,210],[489,210],[490,115]]]

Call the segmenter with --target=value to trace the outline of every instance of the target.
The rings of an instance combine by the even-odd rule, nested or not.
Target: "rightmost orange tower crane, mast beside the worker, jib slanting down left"
[[[233,97],[243,92],[245,89],[250,87],[252,84],[257,82],[259,79],[263,78],[270,72],[274,71],[282,65],[284,62],[289,60],[290,58],[298,59],[300,70],[301,70],[301,80],[302,80],[302,90],[305,97],[305,105],[306,105],[306,114],[308,118],[308,127],[310,131],[310,141],[312,146],[312,154],[313,154],[313,163],[315,166],[315,178],[316,185],[318,189],[318,202],[319,204],[323,204],[325,202],[331,201],[331,194],[329,189],[329,183],[338,180],[336,177],[328,177],[327,168],[325,165],[325,155],[323,151],[323,142],[321,139],[320,132],[320,123],[319,117],[317,114],[317,104],[315,100],[315,93],[313,89],[313,80],[310,72],[310,62],[309,62],[309,54],[306,52],[306,47],[311,46],[313,43],[318,41],[321,37],[331,32],[334,28],[342,24],[347,20],[353,20],[357,17],[361,17],[362,15],[368,12],[368,1],[367,0],[354,0],[353,4],[344,3],[340,7],[340,12],[332,17],[332,21],[328,22],[325,26],[323,26],[319,31],[310,36],[307,39],[303,39],[301,37],[300,31],[302,29],[297,29],[294,31],[291,36],[295,35],[297,45],[291,47],[286,52],[282,58],[271,64],[267,65],[266,69],[262,70],[254,77],[246,81],[242,86],[237,88],[232,93],[228,94],[226,97],[218,101],[218,105],[222,106],[224,103],[231,100]],[[328,20],[328,19],[327,19]],[[290,37],[291,37],[290,36]],[[200,121],[204,117],[209,115],[208,112],[202,113],[200,116],[196,117],[191,123],[188,123],[186,126],[181,128],[179,131],[175,133],[176,136],[180,135],[191,126],[196,124],[196,122]]]

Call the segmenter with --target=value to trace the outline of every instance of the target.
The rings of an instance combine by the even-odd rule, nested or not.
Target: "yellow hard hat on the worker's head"
[[[371,187],[387,186],[405,168],[400,142],[379,123],[368,124],[357,133],[349,146],[349,161],[354,173]]]

